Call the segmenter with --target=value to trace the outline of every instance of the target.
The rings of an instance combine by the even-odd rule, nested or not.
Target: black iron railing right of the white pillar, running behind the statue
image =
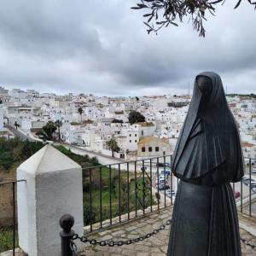
[[[89,209],[84,211],[85,233],[172,206],[178,179],[172,175],[171,159],[164,155],[84,168],[84,209]],[[237,209],[255,217],[256,160],[245,158],[245,163],[245,177],[232,188]]]

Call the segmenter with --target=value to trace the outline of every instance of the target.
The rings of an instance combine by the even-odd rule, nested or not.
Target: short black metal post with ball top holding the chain
[[[74,218],[70,214],[64,214],[60,218],[61,236],[61,256],[72,256],[73,252],[70,246],[70,240],[74,235],[72,230]]]

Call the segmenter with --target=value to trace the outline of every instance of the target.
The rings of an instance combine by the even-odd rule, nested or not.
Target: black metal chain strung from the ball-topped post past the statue
[[[139,236],[137,238],[132,238],[132,239],[125,240],[125,241],[122,241],[122,240],[119,240],[119,241],[97,241],[96,239],[90,239],[87,236],[79,236],[78,234],[75,234],[75,235],[73,235],[73,238],[70,241],[70,247],[71,247],[71,250],[73,252],[73,256],[75,256],[75,255],[77,255],[76,254],[77,246],[73,241],[77,240],[77,239],[79,239],[80,241],[82,241],[84,243],[90,242],[91,245],[99,245],[99,246],[102,246],[102,247],[106,247],[106,246],[108,246],[108,247],[114,247],[114,246],[120,247],[120,246],[123,246],[123,245],[129,245],[129,244],[132,244],[132,243],[136,243],[138,241],[144,241],[145,239],[148,239],[149,237],[158,234],[160,232],[160,230],[165,230],[166,226],[170,225],[170,224],[172,224],[172,219],[168,219],[166,221],[166,223],[161,224],[158,229],[155,229],[152,232],[149,232],[148,234],[146,234],[144,236]],[[247,241],[244,238],[240,238],[240,240],[245,245],[247,245],[247,246],[251,247],[252,249],[256,250],[256,245],[254,245],[252,242]]]

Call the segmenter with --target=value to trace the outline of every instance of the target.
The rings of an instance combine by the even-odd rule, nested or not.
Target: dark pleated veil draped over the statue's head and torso
[[[212,80],[210,96],[202,96],[196,78]],[[172,158],[172,171],[184,180],[197,180],[212,172],[217,183],[236,182],[243,176],[243,158],[236,121],[216,73],[200,73],[183,129]]]

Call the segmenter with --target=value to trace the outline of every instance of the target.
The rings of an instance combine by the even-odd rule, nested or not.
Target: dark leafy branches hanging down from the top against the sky
[[[187,17],[192,23],[196,32],[199,32],[200,37],[205,37],[206,30],[203,22],[206,19],[206,14],[215,15],[215,10],[218,4],[224,4],[225,0],[138,0],[136,7],[131,9],[146,9],[147,13],[143,15],[146,19],[144,24],[147,26],[148,34],[150,32],[157,33],[162,27],[178,26],[177,22],[183,22]],[[256,2],[247,0],[248,3],[256,9]],[[238,0],[234,9],[236,9],[241,0]],[[234,3],[234,5],[235,5]],[[153,22],[151,22],[151,20]],[[151,23],[150,23],[151,22]]]

